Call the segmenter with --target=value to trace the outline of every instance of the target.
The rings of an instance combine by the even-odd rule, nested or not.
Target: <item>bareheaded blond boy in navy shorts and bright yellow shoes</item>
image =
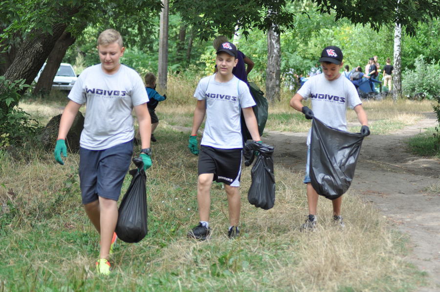
[[[84,209],[101,237],[96,269],[108,275],[109,254],[117,238],[117,201],[133,153],[133,107],[139,121],[144,169],[152,163],[151,119],[141,77],[119,63],[125,51],[119,32],[103,31],[97,49],[101,63],[86,68],[68,95],[70,101],[61,116],[54,155],[64,165],[61,154],[67,157],[67,133],[81,105],[87,104],[80,139],[80,188]]]

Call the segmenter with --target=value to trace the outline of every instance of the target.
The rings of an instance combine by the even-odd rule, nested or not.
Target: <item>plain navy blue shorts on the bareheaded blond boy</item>
[[[80,188],[83,204],[98,197],[117,201],[130,167],[133,140],[104,150],[80,147]]]

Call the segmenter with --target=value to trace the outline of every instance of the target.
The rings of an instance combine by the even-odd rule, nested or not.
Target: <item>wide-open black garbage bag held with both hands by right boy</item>
[[[330,200],[350,187],[364,136],[331,128],[313,118],[310,140],[310,180],[316,192]]]

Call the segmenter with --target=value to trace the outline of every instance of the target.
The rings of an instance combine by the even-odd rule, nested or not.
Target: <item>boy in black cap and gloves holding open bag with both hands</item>
[[[339,73],[343,66],[342,52],[336,46],[328,46],[321,53],[319,62],[323,74],[312,76],[298,90],[290,100],[290,106],[305,114],[307,119],[316,117],[324,124],[339,130],[347,130],[346,109],[350,106],[357,114],[362,125],[361,134],[370,134],[368,128],[367,114],[354,85]],[[301,103],[303,100],[311,99],[313,111]],[[308,219],[301,226],[301,230],[314,229],[316,226],[316,210],[319,195],[312,187],[309,177],[310,157],[310,131],[307,138],[307,165],[304,183],[307,184]],[[333,220],[344,227],[341,216],[342,196],[332,201]]]

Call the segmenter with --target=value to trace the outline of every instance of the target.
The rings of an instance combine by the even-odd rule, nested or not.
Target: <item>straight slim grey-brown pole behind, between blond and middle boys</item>
[[[168,0],[162,0],[163,9],[160,13],[159,28],[159,65],[157,69],[157,85],[160,92],[167,89],[168,72]]]

